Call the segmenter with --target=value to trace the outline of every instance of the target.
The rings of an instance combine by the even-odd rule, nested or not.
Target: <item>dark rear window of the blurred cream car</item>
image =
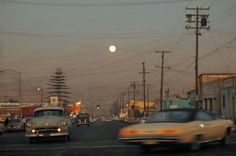
[[[155,122],[187,122],[190,121],[191,112],[189,111],[164,111],[156,112],[150,115],[147,123]]]

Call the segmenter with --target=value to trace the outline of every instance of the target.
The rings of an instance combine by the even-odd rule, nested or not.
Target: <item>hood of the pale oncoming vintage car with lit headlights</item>
[[[63,117],[37,117],[31,120],[33,123],[33,127],[51,127],[51,126],[58,126],[60,121],[63,121]]]

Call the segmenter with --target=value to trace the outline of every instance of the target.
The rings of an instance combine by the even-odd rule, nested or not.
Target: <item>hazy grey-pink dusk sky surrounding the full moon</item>
[[[145,62],[154,98],[161,77],[155,51],[168,50],[164,87],[183,94],[195,79],[195,31],[185,29],[185,15],[195,12],[185,8],[197,6],[210,7],[200,11],[209,14],[210,30],[199,37],[199,73],[236,72],[235,0],[0,0],[0,69],[20,71],[30,96],[38,86],[46,90],[60,67],[74,99],[101,99],[101,92],[141,84]],[[0,73],[1,92],[15,77]]]

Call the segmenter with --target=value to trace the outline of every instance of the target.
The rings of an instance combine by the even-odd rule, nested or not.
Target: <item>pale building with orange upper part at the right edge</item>
[[[236,74],[201,74],[199,76],[200,107],[218,112],[236,121]]]

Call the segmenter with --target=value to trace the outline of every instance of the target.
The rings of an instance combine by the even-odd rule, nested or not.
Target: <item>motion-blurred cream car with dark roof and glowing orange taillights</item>
[[[144,150],[153,146],[188,145],[199,150],[202,143],[227,144],[233,122],[202,109],[170,109],[153,113],[145,123],[119,131],[119,140],[138,144]]]

